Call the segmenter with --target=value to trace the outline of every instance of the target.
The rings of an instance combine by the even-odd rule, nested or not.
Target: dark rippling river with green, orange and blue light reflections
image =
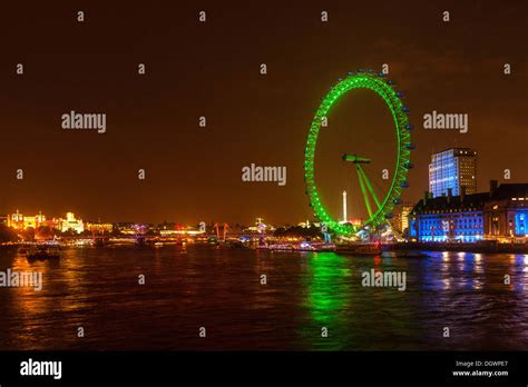
[[[40,291],[0,288],[2,350],[528,348],[526,255],[208,246],[70,248],[55,261],[0,254],[1,270],[40,271],[43,280]],[[404,272],[405,290],[363,287],[371,269]]]

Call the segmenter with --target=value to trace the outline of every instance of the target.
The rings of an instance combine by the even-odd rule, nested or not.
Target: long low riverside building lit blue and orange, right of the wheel
[[[528,183],[498,186],[496,180],[489,192],[426,194],[410,215],[410,237],[423,242],[526,241],[527,226]]]

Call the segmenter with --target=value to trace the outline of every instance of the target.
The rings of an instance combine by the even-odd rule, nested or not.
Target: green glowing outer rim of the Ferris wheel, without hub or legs
[[[345,92],[353,89],[370,89],[384,100],[394,120],[394,128],[398,138],[397,165],[391,186],[384,198],[381,200],[381,206],[361,226],[340,224],[326,211],[321,202],[314,176],[315,147],[322,120],[326,117],[333,103]],[[340,79],[338,85],[331,88],[330,92],[323,98],[321,106],[315,112],[315,117],[310,126],[306,148],[304,151],[304,181],[306,183],[306,194],[310,198],[310,206],[313,208],[315,217],[336,235],[351,236],[361,229],[377,229],[379,226],[387,224],[388,219],[392,217],[393,207],[401,204],[400,197],[402,190],[409,187],[409,183],[407,182],[407,173],[409,169],[412,168],[412,165],[410,163],[410,153],[411,149],[413,149],[413,145],[410,142],[410,130],[412,129],[412,126],[409,125],[409,118],[407,116],[409,109],[403,106],[400,97],[401,93],[393,89],[392,82],[387,80],[382,73],[377,75],[373,73],[372,70],[358,73],[349,72],[345,79]]]

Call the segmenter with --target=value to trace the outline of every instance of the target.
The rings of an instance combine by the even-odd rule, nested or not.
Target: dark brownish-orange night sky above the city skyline
[[[197,21],[199,10],[206,23]],[[452,146],[479,152],[480,190],[490,178],[503,181],[507,168],[510,181],[528,182],[527,14],[526,1],[2,4],[0,214],[72,210],[85,219],[192,224],[312,218],[303,182],[312,116],[339,77],[382,63],[417,127],[405,200],[428,188],[430,153]],[[105,112],[107,132],[62,130],[60,116],[70,110]],[[432,110],[468,113],[469,132],[423,129]],[[379,97],[358,91],[339,101],[316,159],[334,216],[343,188],[351,207],[360,206],[341,155],[372,158],[375,182],[382,168],[393,168],[394,141]],[[287,167],[286,186],[243,182],[242,167],[252,162]]]

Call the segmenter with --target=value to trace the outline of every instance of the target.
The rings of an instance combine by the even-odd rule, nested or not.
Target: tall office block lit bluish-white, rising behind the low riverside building
[[[434,153],[429,165],[429,191],[433,197],[477,194],[477,152],[469,148],[451,148]]]

